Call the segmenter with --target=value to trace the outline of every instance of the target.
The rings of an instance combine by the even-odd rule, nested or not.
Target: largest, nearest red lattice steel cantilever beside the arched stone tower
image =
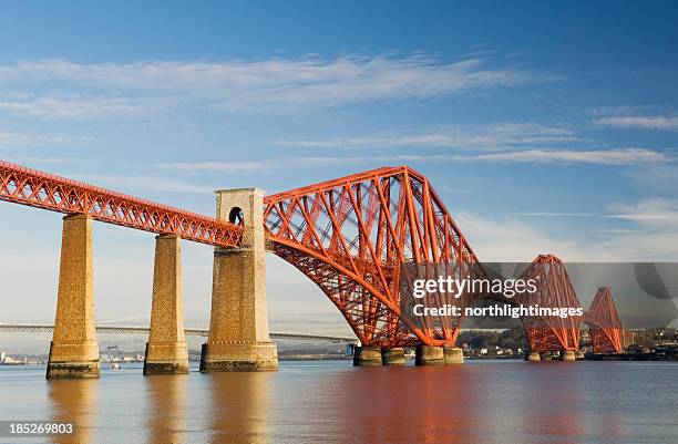
[[[316,282],[363,344],[453,344],[461,319],[418,328],[400,318],[405,262],[477,258],[429,180],[409,167],[373,169],[265,199],[276,255]]]

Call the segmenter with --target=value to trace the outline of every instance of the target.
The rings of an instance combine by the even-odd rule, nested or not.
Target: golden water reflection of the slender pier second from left
[[[150,444],[181,444],[184,442],[184,392],[187,374],[153,375],[147,378]]]

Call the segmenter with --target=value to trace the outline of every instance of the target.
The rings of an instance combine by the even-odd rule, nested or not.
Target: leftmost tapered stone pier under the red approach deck
[[[47,378],[99,378],[90,216],[63,218],[56,317]]]

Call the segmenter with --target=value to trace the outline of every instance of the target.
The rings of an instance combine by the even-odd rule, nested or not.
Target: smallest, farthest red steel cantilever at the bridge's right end
[[[584,314],[594,353],[619,353],[623,350],[624,326],[617,314],[610,287],[600,287]]]

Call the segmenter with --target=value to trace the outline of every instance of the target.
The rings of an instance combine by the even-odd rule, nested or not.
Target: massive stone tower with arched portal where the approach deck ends
[[[201,371],[277,370],[278,349],[266,313],[264,192],[225,189],[216,195],[217,218],[242,223],[244,231],[239,248],[214,251],[209,337]]]

